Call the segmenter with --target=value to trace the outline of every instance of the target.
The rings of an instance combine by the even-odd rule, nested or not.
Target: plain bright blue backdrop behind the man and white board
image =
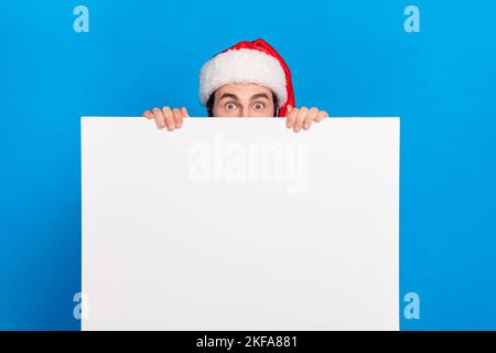
[[[201,65],[257,38],[291,67],[296,106],[402,117],[400,291],[421,318],[401,329],[496,329],[495,17],[492,0],[2,0],[0,329],[79,329],[79,117],[204,116]]]

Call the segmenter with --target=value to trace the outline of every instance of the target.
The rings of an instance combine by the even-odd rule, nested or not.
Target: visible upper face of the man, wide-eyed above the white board
[[[215,93],[214,117],[273,117],[272,90],[256,84],[229,84]]]

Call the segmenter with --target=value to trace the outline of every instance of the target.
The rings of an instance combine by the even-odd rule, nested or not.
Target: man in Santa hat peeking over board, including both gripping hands
[[[291,72],[266,41],[242,41],[206,62],[200,74],[200,100],[209,117],[285,117],[299,132],[328,117],[325,110],[295,108]],[[145,110],[159,129],[180,129],[188,117],[185,107]]]

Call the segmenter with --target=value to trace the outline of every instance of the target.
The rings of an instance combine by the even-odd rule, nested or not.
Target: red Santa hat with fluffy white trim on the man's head
[[[226,84],[258,84],[278,97],[279,116],[288,105],[294,107],[291,72],[281,55],[266,41],[242,41],[206,62],[200,73],[200,100],[206,105],[211,95]]]

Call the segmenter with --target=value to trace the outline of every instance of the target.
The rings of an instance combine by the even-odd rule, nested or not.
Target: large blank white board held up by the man
[[[82,118],[83,330],[398,330],[399,118]]]

